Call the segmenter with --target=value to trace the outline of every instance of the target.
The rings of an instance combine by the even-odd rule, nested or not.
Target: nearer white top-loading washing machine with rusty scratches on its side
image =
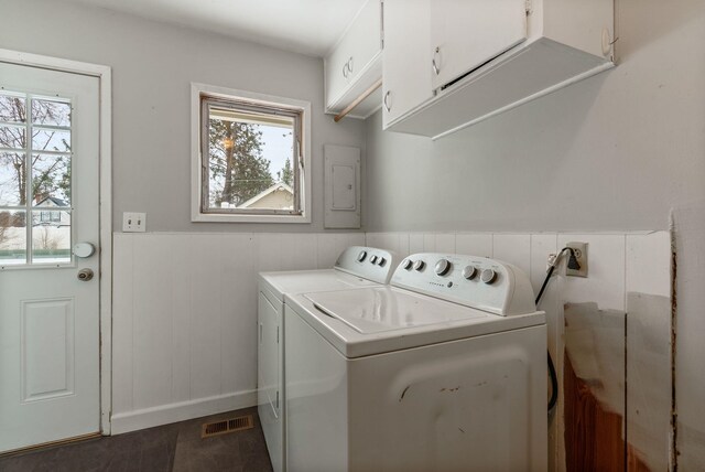
[[[520,269],[419,254],[285,317],[291,472],[547,470],[545,315]]]

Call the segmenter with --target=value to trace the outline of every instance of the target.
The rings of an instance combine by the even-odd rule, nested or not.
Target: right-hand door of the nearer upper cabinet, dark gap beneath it
[[[430,66],[442,87],[527,39],[525,0],[436,0]]]

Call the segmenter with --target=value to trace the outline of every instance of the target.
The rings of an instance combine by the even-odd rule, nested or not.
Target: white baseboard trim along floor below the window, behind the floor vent
[[[257,405],[257,390],[238,391],[236,394],[218,395],[198,398],[196,400],[161,405],[153,408],[128,411],[113,415],[111,418],[111,435],[137,431],[170,422],[184,421],[208,415],[248,408]]]

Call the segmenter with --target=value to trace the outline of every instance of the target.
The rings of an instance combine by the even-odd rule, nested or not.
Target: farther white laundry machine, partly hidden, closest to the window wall
[[[260,272],[258,283],[258,410],[275,472],[284,461],[284,304],[292,293],[380,287],[399,264],[383,249],[351,246],[332,269]]]

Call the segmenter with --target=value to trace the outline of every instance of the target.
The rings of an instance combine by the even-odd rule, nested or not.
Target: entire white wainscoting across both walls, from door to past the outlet
[[[348,246],[405,257],[441,251],[494,257],[525,270],[538,292],[549,254],[589,244],[589,277],[562,264],[540,308],[563,374],[563,305],[626,309],[627,290],[670,294],[670,234],[122,234],[113,237],[112,432],[257,403],[257,273],[329,268]],[[650,255],[653,255],[651,257]],[[654,259],[655,258],[655,259]],[[562,385],[562,382],[560,382]],[[561,408],[561,404],[558,405]],[[558,416],[560,418],[560,416]],[[551,429],[552,463],[561,469]],[[557,438],[556,438],[557,437]]]

